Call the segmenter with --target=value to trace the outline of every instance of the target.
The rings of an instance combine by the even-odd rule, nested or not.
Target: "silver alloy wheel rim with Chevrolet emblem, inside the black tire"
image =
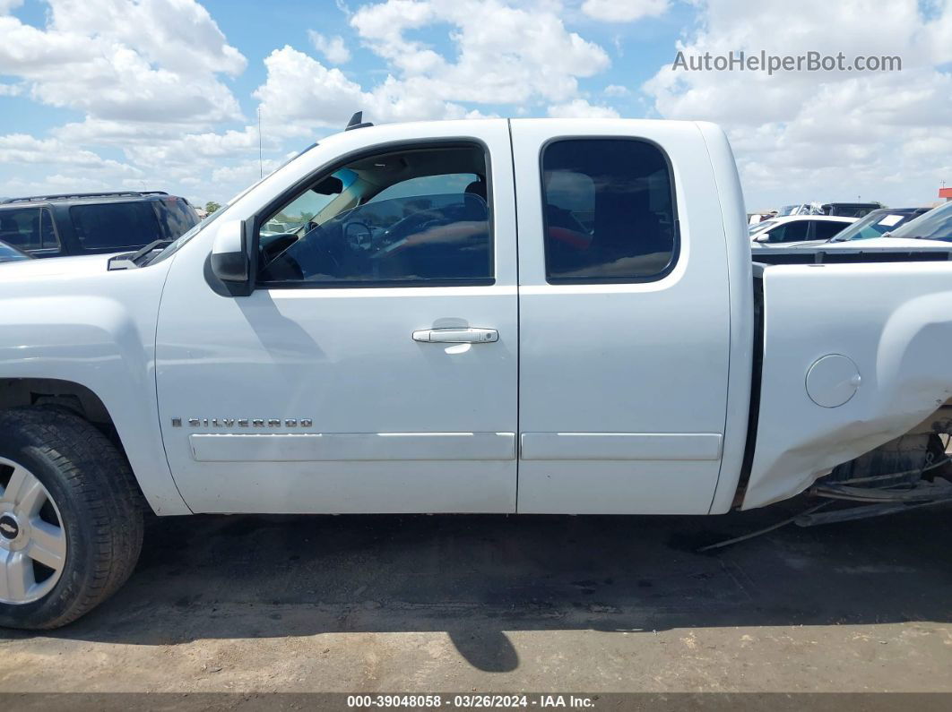
[[[50,492],[29,470],[0,457],[0,603],[50,593],[66,566],[66,529]]]

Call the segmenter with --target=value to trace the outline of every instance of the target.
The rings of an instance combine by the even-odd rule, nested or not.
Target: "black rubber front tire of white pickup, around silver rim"
[[[89,421],[59,408],[0,411],[0,456],[28,469],[59,508],[67,554],[46,596],[0,603],[0,625],[50,629],[103,603],[142,549],[141,492],[122,453]]]

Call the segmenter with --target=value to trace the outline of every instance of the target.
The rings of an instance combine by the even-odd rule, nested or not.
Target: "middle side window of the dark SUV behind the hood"
[[[123,250],[165,239],[149,202],[107,202],[69,208],[84,250]]]

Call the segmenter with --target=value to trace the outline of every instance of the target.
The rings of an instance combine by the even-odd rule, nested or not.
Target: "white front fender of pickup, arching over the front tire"
[[[169,262],[108,272],[104,260],[101,271],[11,274],[0,283],[0,378],[88,388],[109,412],[151,508],[187,514],[166,460],[155,394],[155,324]]]

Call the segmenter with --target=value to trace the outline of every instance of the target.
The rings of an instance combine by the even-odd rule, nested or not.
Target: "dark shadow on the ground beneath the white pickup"
[[[469,664],[506,672],[519,665],[506,631],[952,621],[948,509],[790,526],[696,552],[804,506],[720,517],[158,519],[126,587],[51,635],[175,645],[446,631]]]

